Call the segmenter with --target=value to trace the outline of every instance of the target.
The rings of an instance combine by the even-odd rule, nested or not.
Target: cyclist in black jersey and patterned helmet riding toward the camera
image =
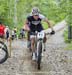
[[[24,29],[29,31],[29,33],[30,33],[29,34],[30,39],[28,38],[28,40],[31,40],[31,49],[33,52],[32,60],[36,60],[35,48],[34,48],[35,36],[33,35],[32,32],[35,32],[35,31],[40,32],[43,30],[43,27],[41,24],[42,20],[48,24],[48,26],[52,29],[52,34],[54,34],[55,32],[54,32],[49,20],[44,15],[39,13],[39,9],[37,7],[34,7],[32,9],[32,13],[27,17],[25,25],[24,25]],[[46,42],[46,38],[44,38],[44,43],[45,42]]]

